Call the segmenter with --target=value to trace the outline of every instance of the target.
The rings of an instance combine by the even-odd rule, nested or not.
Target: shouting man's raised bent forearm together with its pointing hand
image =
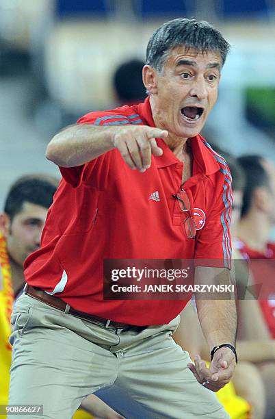
[[[151,155],[160,156],[163,153],[155,138],[167,136],[168,131],[147,125],[70,125],[53,137],[46,157],[58,166],[74,167],[116,148],[131,169],[143,173],[150,167]]]

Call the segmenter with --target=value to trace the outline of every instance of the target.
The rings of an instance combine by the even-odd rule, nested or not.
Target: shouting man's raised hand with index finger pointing
[[[128,166],[144,173],[150,167],[152,153],[162,155],[155,138],[166,138],[168,131],[146,125],[123,126],[114,133],[113,144]]]

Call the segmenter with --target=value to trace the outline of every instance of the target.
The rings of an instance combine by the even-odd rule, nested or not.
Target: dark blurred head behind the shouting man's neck
[[[146,91],[142,81],[141,60],[129,60],[116,68],[113,76],[113,86],[116,99],[120,105],[136,105],[146,98]]]

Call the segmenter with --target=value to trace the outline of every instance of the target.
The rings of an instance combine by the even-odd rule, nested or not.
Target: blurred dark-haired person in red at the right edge
[[[264,278],[259,272],[253,270],[254,283],[260,283],[263,280],[274,283],[274,262],[268,262],[268,259],[275,259],[275,243],[270,242],[270,233],[275,225],[275,168],[271,162],[268,162],[259,155],[244,155],[239,157],[246,173],[246,188],[244,190],[244,203],[241,209],[241,220],[237,229],[236,246],[243,257],[246,259],[265,259]],[[275,309],[274,309],[274,291],[270,291],[267,299],[259,299],[258,306],[261,307],[263,320],[261,322],[253,321],[249,304],[252,301],[244,301],[244,310],[242,318],[245,320],[243,332],[250,340],[255,337],[261,338],[258,346],[254,344],[244,348],[244,353],[254,357],[257,363],[267,394],[267,416],[268,419],[275,418]],[[260,344],[261,343],[261,344]],[[263,362],[264,361],[264,362]]]

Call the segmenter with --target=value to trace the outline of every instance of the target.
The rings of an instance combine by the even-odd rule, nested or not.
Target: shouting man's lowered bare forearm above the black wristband
[[[218,272],[218,274],[217,274]],[[196,268],[196,282],[231,283],[228,272],[219,268]],[[237,329],[237,312],[235,300],[219,299],[219,294],[213,299],[202,299],[198,296],[196,306],[202,332],[205,335],[209,350],[214,346],[229,343],[235,346]]]

